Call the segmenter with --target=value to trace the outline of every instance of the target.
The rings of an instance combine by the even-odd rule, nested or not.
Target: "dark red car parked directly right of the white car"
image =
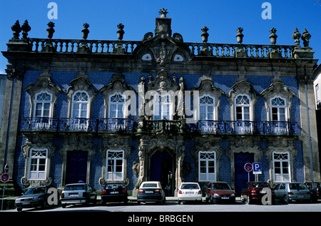
[[[208,183],[205,191],[205,202],[235,202],[235,192],[225,182]]]

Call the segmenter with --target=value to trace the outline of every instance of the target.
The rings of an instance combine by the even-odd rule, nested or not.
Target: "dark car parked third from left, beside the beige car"
[[[106,202],[128,202],[128,193],[123,183],[106,183],[101,193],[101,204]]]

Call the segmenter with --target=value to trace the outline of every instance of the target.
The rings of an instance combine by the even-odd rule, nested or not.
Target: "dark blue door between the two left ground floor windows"
[[[87,178],[87,159],[86,151],[68,151],[66,166],[66,184],[86,183]]]

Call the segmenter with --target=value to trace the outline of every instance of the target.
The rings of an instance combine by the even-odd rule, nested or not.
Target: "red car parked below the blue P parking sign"
[[[241,191],[241,201],[252,204],[253,202],[262,202],[263,196],[267,191],[263,188],[270,188],[267,182],[249,182],[245,185],[245,188]],[[272,204],[275,203],[275,192],[273,188],[270,188],[272,195]]]

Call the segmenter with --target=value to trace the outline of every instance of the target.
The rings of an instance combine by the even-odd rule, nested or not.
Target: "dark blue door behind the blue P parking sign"
[[[240,192],[248,183],[249,175],[250,181],[254,181],[253,172],[248,173],[244,169],[245,163],[253,163],[254,154],[252,153],[235,153],[234,154],[234,169],[235,169],[235,193],[240,195]]]

